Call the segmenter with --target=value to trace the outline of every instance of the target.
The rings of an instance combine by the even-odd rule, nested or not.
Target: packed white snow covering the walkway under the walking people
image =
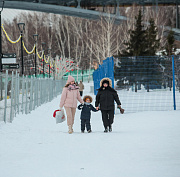
[[[101,112],[92,113],[93,132],[82,134],[77,110],[68,134],[66,122],[52,117],[59,101],[0,123],[0,177],[180,176],[180,111],[116,111],[111,133],[103,132]]]

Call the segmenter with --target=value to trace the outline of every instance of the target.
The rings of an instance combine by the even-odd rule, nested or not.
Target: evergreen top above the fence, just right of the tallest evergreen
[[[147,55],[155,56],[160,46],[160,39],[157,39],[158,30],[154,24],[154,20],[150,19],[150,25],[146,29]]]

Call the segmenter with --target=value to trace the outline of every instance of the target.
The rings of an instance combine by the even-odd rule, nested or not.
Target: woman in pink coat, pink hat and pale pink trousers
[[[77,108],[77,101],[84,103],[79,93],[79,87],[75,84],[75,79],[72,76],[68,76],[67,83],[63,88],[60,109],[64,106],[67,114],[67,125],[69,127],[69,133],[73,133],[74,116]]]

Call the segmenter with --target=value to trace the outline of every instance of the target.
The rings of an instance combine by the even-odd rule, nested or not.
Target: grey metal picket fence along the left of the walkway
[[[62,92],[64,80],[0,74],[0,121],[12,122],[16,114],[28,114]]]

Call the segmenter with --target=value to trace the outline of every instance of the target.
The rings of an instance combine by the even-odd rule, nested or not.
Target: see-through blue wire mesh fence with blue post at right
[[[115,89],[126,112],[180,110],[180,56],[120,57],[115,63]]]

